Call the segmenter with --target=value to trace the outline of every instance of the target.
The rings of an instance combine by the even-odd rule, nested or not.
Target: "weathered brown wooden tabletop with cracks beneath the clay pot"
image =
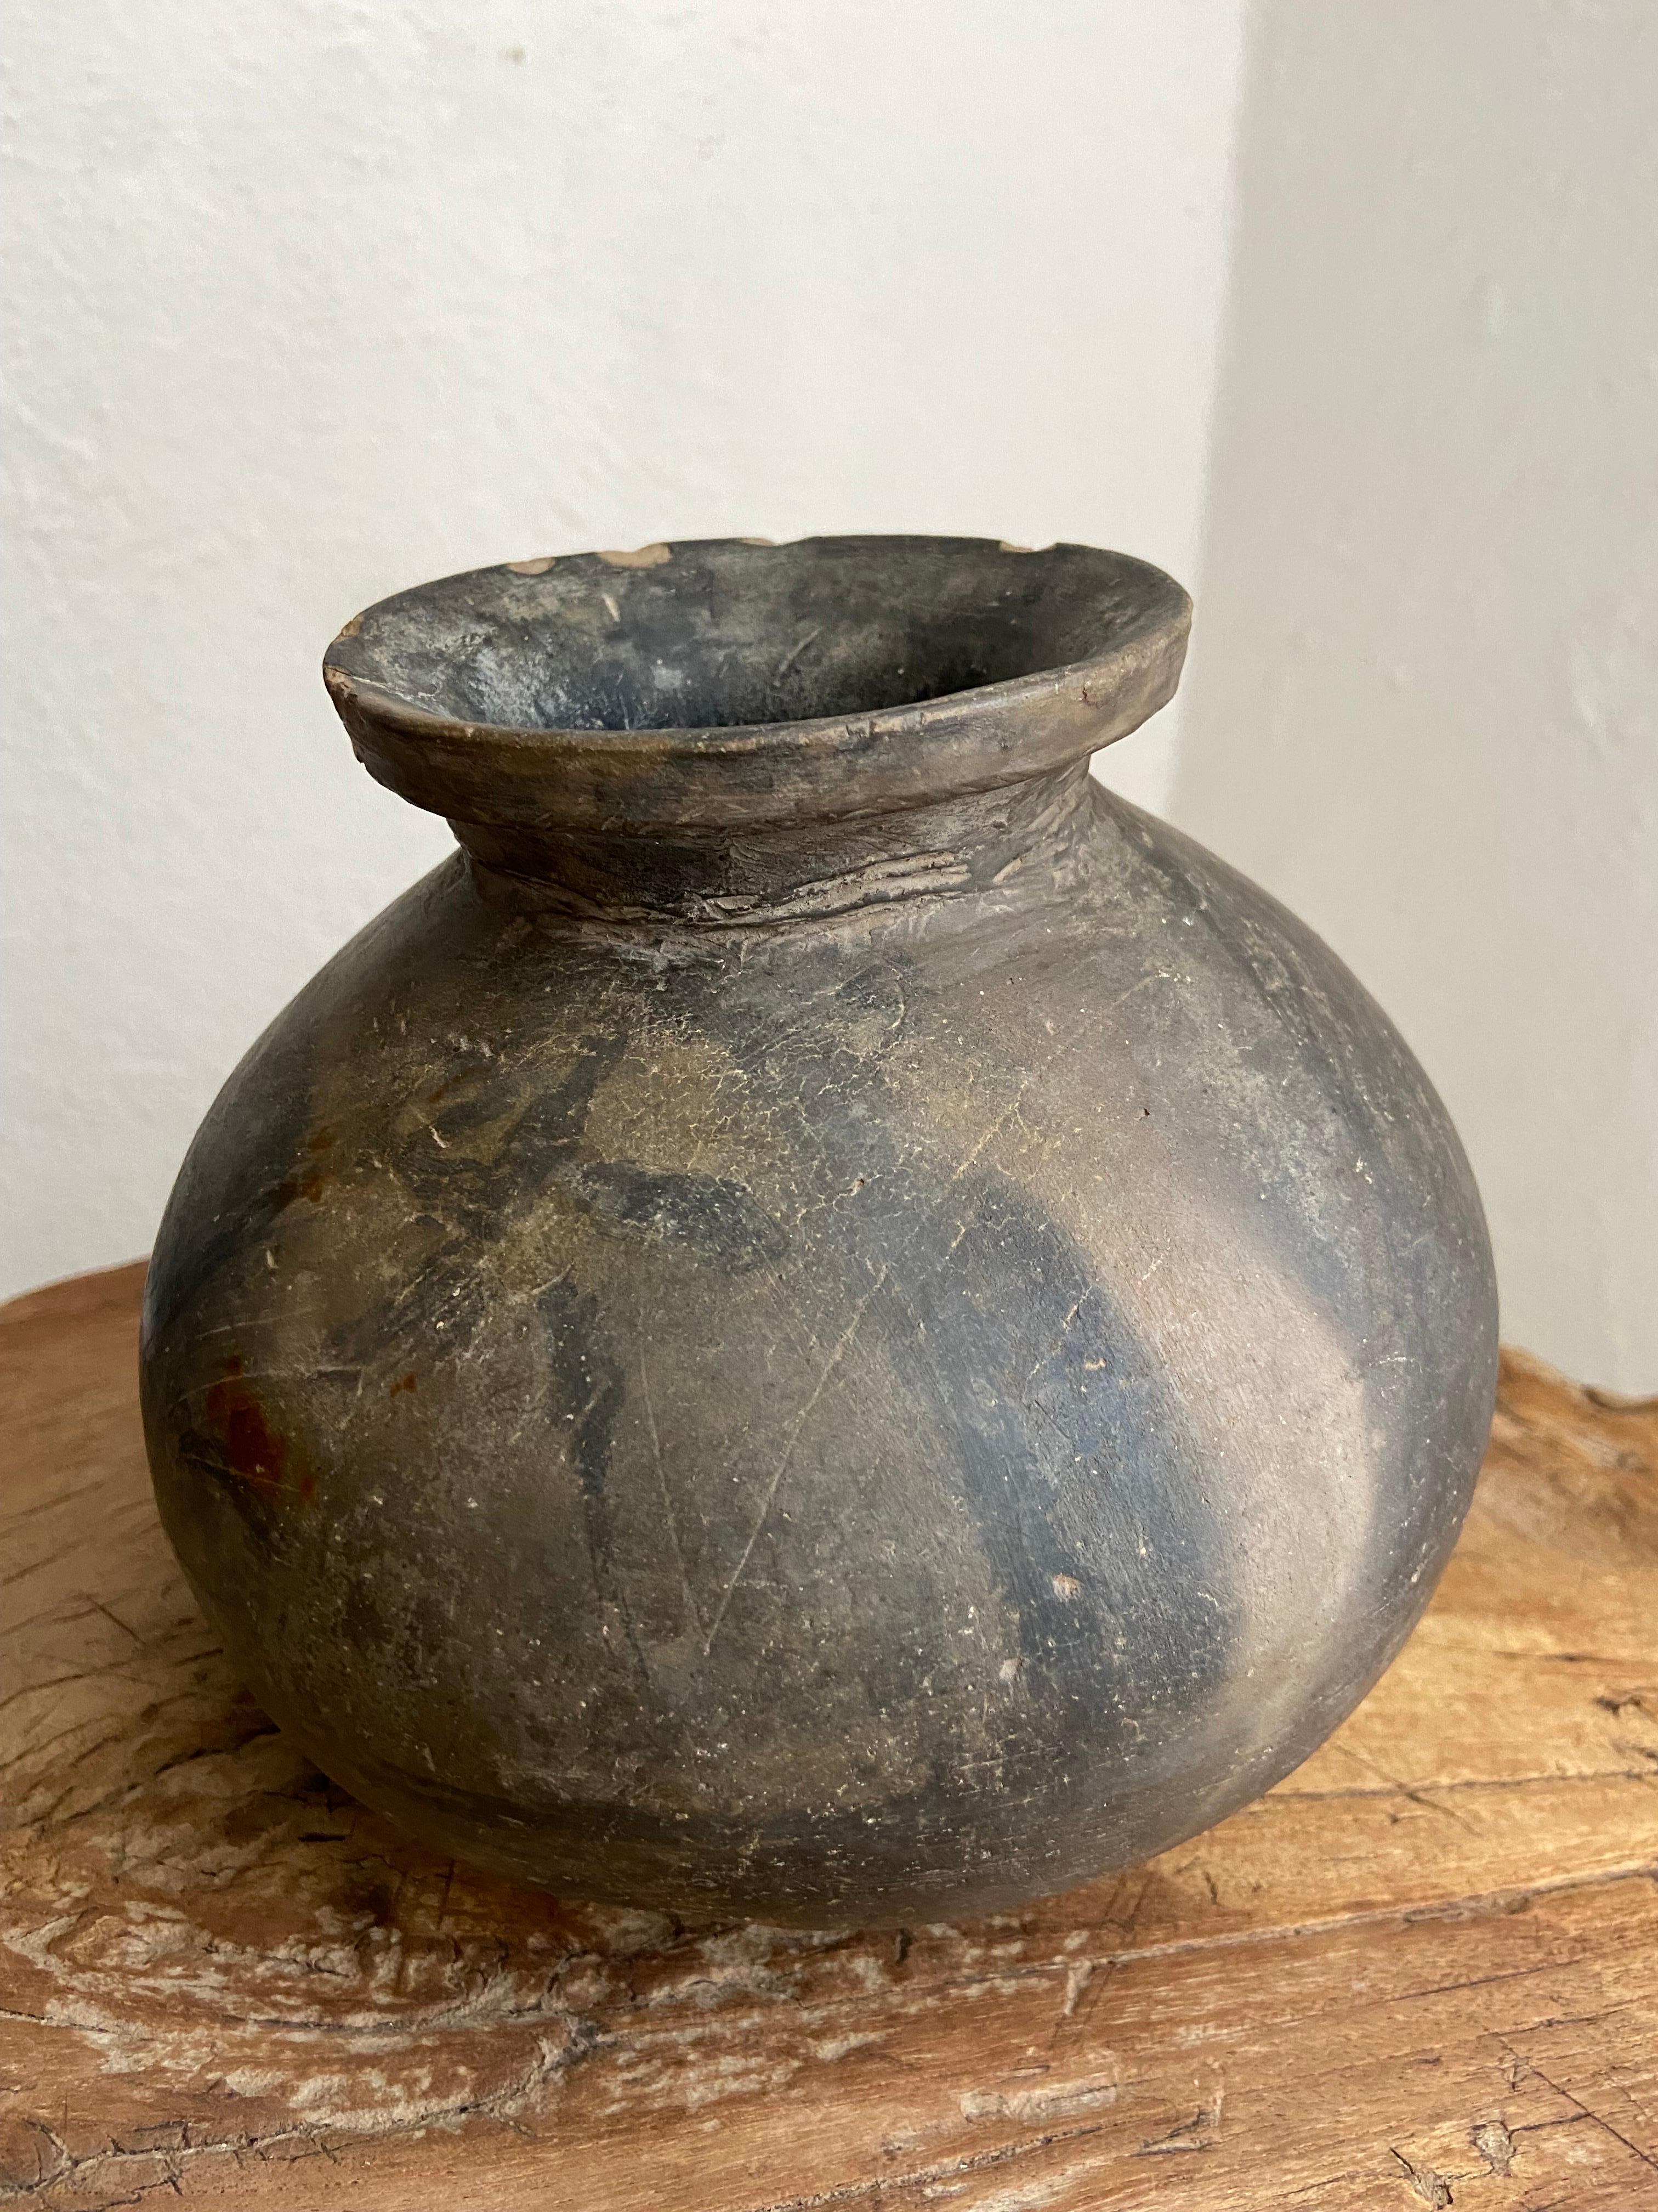
[[[141,1270],[0,1310],[0,2201],[1658,2208],[1658,1400],[1508,1354],[1439,1597],[1165,1858],[898,1936],[405,1843],[157,1528]]]

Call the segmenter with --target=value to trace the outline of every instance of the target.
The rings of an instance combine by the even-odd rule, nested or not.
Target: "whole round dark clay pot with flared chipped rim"
[[[738,540],[334,641],[460,852],[225,1084],[144,1402],[254,1697],[440,1851],[1008,1907],[1287,1774],[1421,1613],[1479,1199],[1326,947],[1088,776],[1187,613],[1085,546]]]

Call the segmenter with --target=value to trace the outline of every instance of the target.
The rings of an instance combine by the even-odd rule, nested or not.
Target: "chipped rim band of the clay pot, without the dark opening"
[[[736,549],[816,557],[920,557],[1066,564],[1081,580],[1079,615],[1099,644],[1052,666],[944,690],[909,703],[785,721],[579,728],[464,719],[422,706],[369,672],[376,628],[440,595],[520,595],[522,580],[573,566],[626,591],[676,555],[741,560]],[[1088,584],[1092,577],[1094,593]],[[511,582],[508,582],[511,580]],[[564,582],[564,580],[562,580]],[[570,553],[500,562],[396,593],[336,635],[323,679],[369,774],[402,799],[458,823],[732,832],[926,805],[1085,761],[1165,706],[1180,679],[1192,599],[1161,568],[1127,553],[988,538],[838,535],[780,546],[756,538],[674,540],[637,553]]]

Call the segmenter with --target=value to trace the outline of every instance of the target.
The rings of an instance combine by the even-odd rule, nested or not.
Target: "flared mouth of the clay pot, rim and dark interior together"
[[[838,710],[749,719],[778,695],[811,703],[811,681],[783,690],[785,615],[818,613],[831,670],[807,675]],[[511,827],[716,832],[922,805],[1085,759],[1174,697],[1189,619],[1169,575],[1094,546],[679,540],[416,586],[354,617],[323,672],[358,759],[413,805]],[[915,661],[893,681],[922,697],[860,703],[891,639]],[[990,679],[931,688],[962,670]],[[721,684],[745,712],[712,719]],[[650,719],[674,686],[696,719]],[[533,719],[513,714],[526,697]]]

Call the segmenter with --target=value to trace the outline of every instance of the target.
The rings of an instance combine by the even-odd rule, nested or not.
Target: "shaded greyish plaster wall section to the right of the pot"
[[[1174,812],[1417,1046],[1505,1336],[1658,1389],[1658,7],[1249,55]]]

